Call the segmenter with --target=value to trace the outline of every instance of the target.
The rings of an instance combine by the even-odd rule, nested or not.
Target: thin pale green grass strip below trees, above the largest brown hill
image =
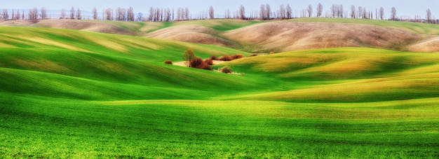
[[[363,20],[351,18],[297,18],[292,22],[329,22],[329,23],[348,23],[360,25],[377,25],[381,27],[391,27],[402,29],[417,34],[439,35],[439,26],[421,22],[396,22],[391,20]]]

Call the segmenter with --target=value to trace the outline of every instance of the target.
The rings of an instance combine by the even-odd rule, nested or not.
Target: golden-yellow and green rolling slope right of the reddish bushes
[[[248,57],[229,65],[281,88],[231,99],[378,102],[438,97],[439,56],[370,48],[307,50]],[[278,81],[278,83],[279,83]]]

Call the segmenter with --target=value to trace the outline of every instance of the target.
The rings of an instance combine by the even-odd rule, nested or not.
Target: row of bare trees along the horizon
[[[0,14],[0,20],[37,20],[47,19],[48,13],[46,8],[32,8],[27,11],[12,10],[11,16],[7,9],[3,9]],[[437,23],[438,20],[431,14],[431,10],[426,10],[425,18],[421,15],[415,15],[414,18],[410,16],[400,16],[396,12],[396,8],[392,7],[389,11],[389,18],[386,19],[386,12],[384,8],[375,8],[368,10],[362,6],[351,6],[349,9],[344,8],[342,4],[333,4],[326,12],[322,4],[318,3],[314,8],[309,4],[302,11],[292,11],[290,4],[271,8],[270,4],[261,4],[259,9],[254,11],[246,11],[245,6],[239,6],[235,11],[227,9],[224,15],[219,16],[219,12],[215,11],[213,6],[210,6],[206,11],[200,13],[190,13],[189,8],[154,8],[148,10],[148,15],[143,13],[135,15],[133,7],[129,8],[106,8],[102,10],[102,15],[99,15],[97,8],[93,8],[91,18],[93,20],[116,20],[116,21],[180,21],[180,20],[203,20],[203,19],[241,19],[241,20],[273,20],[273,19],[292,19],[292,18],[358,18],[358,19],[376,19],[376,20],[395,20],[395,21],[413,21],[413,22],[428,22]],[[215,14],[216,13],[216,14]],[[73,6],[67,11],[62,8],[59,15],[60,19],[76,19],[82,20],[81,9],[75,9]]]

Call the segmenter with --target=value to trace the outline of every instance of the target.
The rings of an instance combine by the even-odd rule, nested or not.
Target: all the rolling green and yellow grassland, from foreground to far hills
[[[163,61],[250,53],[41,27],[0,37],[0,158],[439,158],[437,53],[301,50],[215,65],[240,73],[222,74]]]

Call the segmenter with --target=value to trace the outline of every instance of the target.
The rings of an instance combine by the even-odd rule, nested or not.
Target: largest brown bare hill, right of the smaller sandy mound
[[[316,22],[269,22],[232,30],[223,36],[275,51],[336,47],[402,50],[408,43],[422,39],[419,34],[387,27]]]

